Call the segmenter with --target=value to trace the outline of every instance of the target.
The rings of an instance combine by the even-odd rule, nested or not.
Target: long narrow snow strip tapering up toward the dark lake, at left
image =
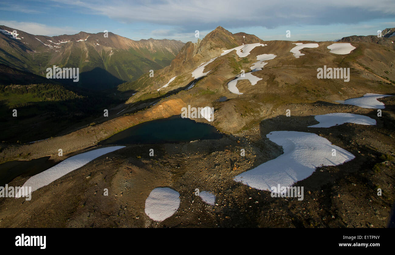
[[[40,174],[36,174],[35,176],[30,177],[24,184],[24,187],[32,187],[32,192],[40,189],[48,185],[49,183],[59,179],[60,177],[70,173],[71,171],[80,168],[87,164],[88,162],[100,157],[104,154],[107,154],[112,151],[116,151],[117,149],[121,149],[125,146],[112,146],[105,147],[100,149],[95,149],[93,151],[88,151],[85,153],[81,153],[65,159],[59,164],[41,172]],[[18,196],[21,194],[18,193]]]

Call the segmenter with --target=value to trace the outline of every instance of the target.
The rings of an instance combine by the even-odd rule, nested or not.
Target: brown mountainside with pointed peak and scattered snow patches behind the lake
[[[186,43],[170,66],[152,77],[144,74],[137,81],[119,85],[118,90],[133,93],[124,114],[137,105],[147,108],[152,118],[177,114],[180,106],[209,106],[214,108],[211,125],[239,132],[263,116],[270,118],[280,107],[290,107],[288,104],[390,93],[395,84],[395,51],[388,47],[388,42],[393,45],[390,38],[378,40],[387,44],[352,41],[349,53],[338,54],[330,46],[340,42],[263,41],[218,26],[197,43]],[[294,49],[302,44],[316,47],[302,48],[299,53],[303,55],[296,57]],[[346,83],[317,79],[320,66],[350,68],[352,79]]]

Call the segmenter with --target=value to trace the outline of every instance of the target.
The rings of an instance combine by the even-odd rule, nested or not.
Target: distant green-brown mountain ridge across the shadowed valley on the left
[[[111,32],[108,37],[104,32],[40,36],[0,26],[0,63],[41,76],[53,65],[78,67],[78,85],[92,89],[114,87],[164,68],[183,46],[176,40],[134,41]]]

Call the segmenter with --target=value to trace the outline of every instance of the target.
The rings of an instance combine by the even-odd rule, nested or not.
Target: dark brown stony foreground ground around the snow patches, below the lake
[[[104,155],[24,198],[0,198],[0,227],[385,227],[395,199],[395,97],[374,109],[326,102],[293,104],[248,130],[220,140],[184,144],[129,145]],[[376,119],[376,126],[346,123],[308,128],[311,114],[350,112]],[[265,135],[275,130],[313,132],[350,151],[355,159],[318,168],[297,182],[304,200],[273,198],[233,178],[274,159],[282,149]],[[155,151],[149,157],[149,149]],[[245,149],[245,157],[240,149]],[[141,158],[139,158],[141,157]],[[377,167],[375,167],[377,166]],[[9,183],[19,186],[27,178]],[[163,222],[145,215],[145,199],[156,187],[180,193],[179,210]],[[103,196],[103,190],[109,190]],[[215,206],[194,195],[216,195]],[[382,189],[382,196],[377,189]]]

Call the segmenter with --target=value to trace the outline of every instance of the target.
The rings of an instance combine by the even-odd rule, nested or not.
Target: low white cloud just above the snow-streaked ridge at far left
[[[79,32],[67,26],[63,26],[63,27],[47,26],[44,24],[34,23],[34,22],[0,20],[0,24],[4,26],[8,26],[10,28],[22,30],[29,34],[35,34],[41,36],[58,36],[61,34],[76,34]]]

